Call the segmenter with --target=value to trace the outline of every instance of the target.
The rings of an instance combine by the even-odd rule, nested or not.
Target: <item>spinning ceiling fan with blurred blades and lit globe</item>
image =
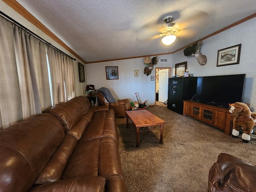
[[[160,16],[160,18],[144,24],[137,39],[143,42],[151,42],[162,38],[162,43],[172,44],[177,38],[195,38],[200,30],[209,24],[209,15],[205,11],[193,7],[181,11],[173,11]],[[165,25],[163,26],[163,23]],[[169,42],[166,42],[166,40]]]

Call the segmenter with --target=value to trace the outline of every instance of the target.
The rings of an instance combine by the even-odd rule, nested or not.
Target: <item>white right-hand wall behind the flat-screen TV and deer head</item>
[[[256,18],[234,26],[220,34],[212,36],[202,43],[201,53],[207,56],[207,64],[201,66],[194,56],[184,56],[183,50],[172,55],[172,69],[178,62],[188,61],[188,70],[194,76],[212,76],[226,74],[246,74],[242,102],[249,103],[256,111]],[[217,67],[218,50],[241,45],[239,64]],[[221,86],[221,85],[220,85]],[[235,90],[234,90],[235,91]]]

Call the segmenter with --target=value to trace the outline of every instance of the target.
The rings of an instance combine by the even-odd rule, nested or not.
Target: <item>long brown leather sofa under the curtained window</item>
[[[126,192],[114,110],[78,96],[0,132],[2,192]]]

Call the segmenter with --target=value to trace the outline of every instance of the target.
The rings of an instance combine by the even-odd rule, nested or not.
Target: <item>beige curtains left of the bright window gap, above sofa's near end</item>
[[[0,129],[51,106],[46,44],[0,17]]]

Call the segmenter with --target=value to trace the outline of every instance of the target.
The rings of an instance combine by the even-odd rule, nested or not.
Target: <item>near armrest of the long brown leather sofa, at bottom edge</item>
[[[64,179],[56,182],[42,184],[31,188],[28,192],[52,192],[52,191],[105,191],[106,179],[101,176],[87,176],[72,179]]]

